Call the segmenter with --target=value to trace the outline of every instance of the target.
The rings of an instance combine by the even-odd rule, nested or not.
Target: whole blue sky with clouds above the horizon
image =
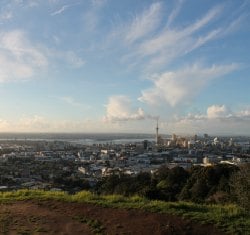
[[[0,132],[250,135],[250,0],[0,0]]]

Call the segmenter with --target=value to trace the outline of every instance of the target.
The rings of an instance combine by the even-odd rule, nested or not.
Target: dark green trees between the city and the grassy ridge
[[[234,202],[249,209],[250,164],[194,166],[189,170],[162,166],[154,174],[143,172],[135,177],[113,174],[100,181],[95,190],[99,194],[139,195],[164,201]]]

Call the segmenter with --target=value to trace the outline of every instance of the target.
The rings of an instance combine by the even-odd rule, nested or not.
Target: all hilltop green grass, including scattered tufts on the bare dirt
[[[250,216],[244,209],[233,205],[205,205],[190,202],[163,202],[156,200],[148,200],[139,196],[124,197],[120,195],[97,196],[88,191],[82,191],[75,195],[69,195],[66,192],[51,192],[42,190],[19,190],[15,192],[1,192],[1,205],[8,205],[18,202],[34,202],[43,205],[50,205],[53,210],[53,202],[55,204],[77,203],[78,205],[88,204],[95,205],[97,208],[116,208],[117,210],[126,209],[144,211],[147,213],[158,213],[162,215],[173,215],[178,218],[197,221],[199,224],[215,225],[220,231],[228,234],[250,234]],[[49,202],[49,203],[48,203]],[[63,207],[63,206],[62,206]],[[6,211],[8,211],[6,207]],[[91,217],[82,217],[77,214],[72,215],[73,221],[81,222],[91,228],[92,234],[105,234],[105,226]],[[18,220],[18,219],[17,219]],[[30,220],[30,219],[29,219]],[[35,219],[34,219],[35,220]],[[8,234],[10,216],[5,211],[0,213],[1,232]],[[32,221],[29,221],[31,223]],[[18,221],[16,221],[18,223]],[[117,225],[118,226],[118,225]],[[118,226],[119,227],[119,226]],[[39,232],[40,229],[40,232]],[[118,228],[117,228],[118,229]],[[37,231],[19,231],[16,234],[42,234],[42,229]],[[44,233],[45,234],[45,233]]]

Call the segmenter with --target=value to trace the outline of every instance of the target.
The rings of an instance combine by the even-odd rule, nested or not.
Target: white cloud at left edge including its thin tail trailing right
[[[81,68],[85,64],[75,52],[55,51],[35,44],[21,30],[0,32],[0,82],[32,79],[46,70],[49,60],[55,58],[72,68]]]

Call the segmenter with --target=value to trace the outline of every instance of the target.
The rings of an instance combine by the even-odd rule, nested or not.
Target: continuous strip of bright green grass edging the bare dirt
[[[150,212],[174,214],[201,223],[214,224],[229,234],[250,234],[249,212],[244,211],[234,204],[202,205],[190,202],[151,201],[139,196],[97,196],[88,191],[82,191],[75,195],[69,195],[66,192],[43,190],[19,190],[0,193],[0,203],[30,199],[54,199],[67,202],[92,203],[103,207],[133,208]]]

